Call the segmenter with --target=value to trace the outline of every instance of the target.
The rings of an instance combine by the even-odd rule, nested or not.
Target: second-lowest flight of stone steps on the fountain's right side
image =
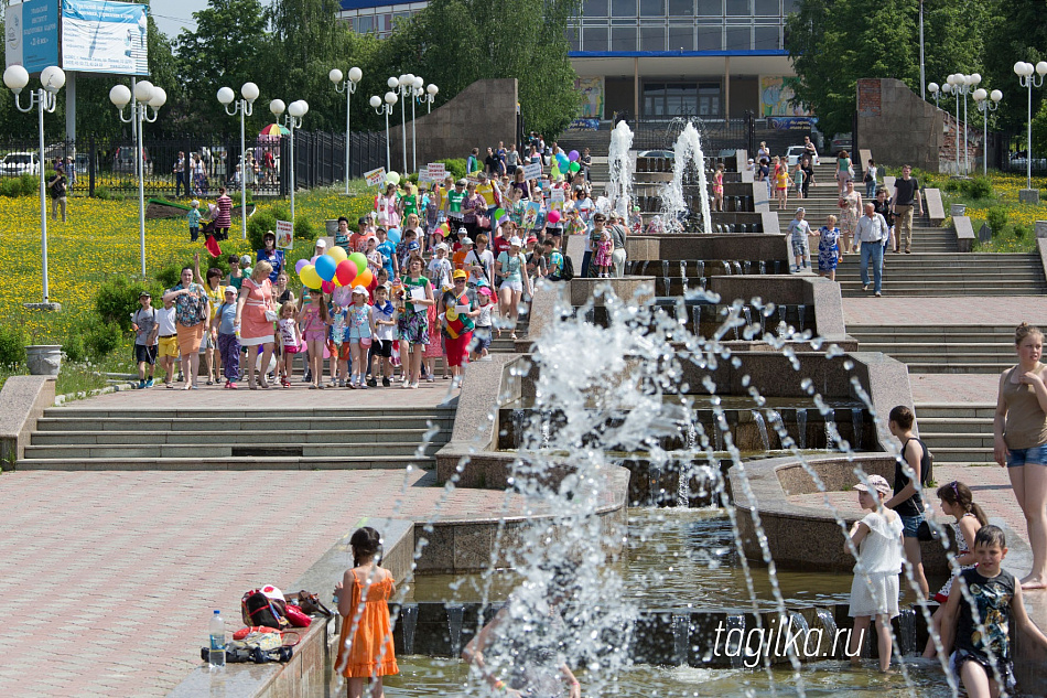
[[[883,352],[910,374],[993,374],[1014,365],[1014,329],[986,325],[851,325],[863,352]]]

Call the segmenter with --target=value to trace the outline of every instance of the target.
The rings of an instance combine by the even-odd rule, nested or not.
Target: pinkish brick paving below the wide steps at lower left
[[[292,584],[364,516],[525,509],[420,471],[26,471],[0,476],[0,696],[67,698],[166,695],[213,609],[238,626],[245,590]]]

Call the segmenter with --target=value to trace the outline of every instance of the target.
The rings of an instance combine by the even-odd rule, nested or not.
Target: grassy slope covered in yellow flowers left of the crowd
[[[363,181],[353,183],[355,196],[344,195],[344,184],[316,189],[295,195],[295,213],[323,235],[324,222],[346,215],[356,221],[373,208],[373,192]],[[212,200],[201,201],[206,208]],[[269,204],[258,202],[259,210]],[[285,203],[282,202],[281,203]],[[141,276],[138,201],[101,201],[73,197],[68,205],[68,222],[47,222],[47,271],[50,300],[62,303],[57,313],[30,311],[25,302],[43,300],[40,238],[40,200],[35,196],[0,197],[0,268],[4,282],[0,286],[0,324],[21,326],[29,344],[63,344],[75,327],[97,319],[94,314],[95,293],[108,277],[137,279]],[[240,239],[239,221],[234,221],[230,239],[222,243],[224,254],[251,254],[247,240]],[[201,243],[190,241],[188,228],[182,218],[145,222],[145,269],[152,277],[165,266],[192,264],[193,253],[203,259],[207,253]],[[312,256],[312,243],[298,241],[289,253],[288,267],[293,273],[294,262]],[[206,262],[202,266],[206,267]],[[159,305],[160,299],[153,299]],[[82,368],[69,366],[69,376],[58,382],[60,393],[78,391],[105,385],[97,374],[102,371],[131,373],[130,337],[127,346],[111,356]],[[25,373],[24,366],[0,367],[0,384],[12,373]],[[63,376],[66,369],[63,367]],[[77,377],[74,377],[79,374]],[[72,380],[73,383],[67,383]],[[68,389],[64,389],[64,386]]]

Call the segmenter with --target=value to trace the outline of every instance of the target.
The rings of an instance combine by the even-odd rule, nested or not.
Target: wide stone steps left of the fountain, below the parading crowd
[[[454,407],[257,409],[50,408],[19,470],[433,468]],[[427,442],[425,436],[431,429]]]

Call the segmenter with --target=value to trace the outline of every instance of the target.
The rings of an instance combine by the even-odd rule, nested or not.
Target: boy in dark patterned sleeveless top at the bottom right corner
[[[949,594],[941,616],[941,646],[952,653],[953,673],[963,680],[970,698],[996,698],[1014,688],[1010,625],[1024,632],[1030,645],[1047,652],[1047,637],[1029,620],[1022,601],[1022,587],[1000,567],[1007,556],[1003,530],[982,526],[974,536],[974,569],[960,572],[973,604],[961,593]],[[978,621],[971,612],[976,606]],[[956,652],[953,652],[956,649]],[[1034,651],[1035,652],[1035,651]]]

